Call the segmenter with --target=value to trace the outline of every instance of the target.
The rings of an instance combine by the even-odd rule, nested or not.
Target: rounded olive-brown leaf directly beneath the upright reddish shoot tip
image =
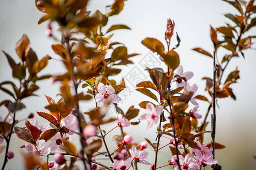
[[[175,70],[179,66],[179,54],[174,50],[167,52],[163,56],[163,59],[165,60],[166,65],[170,67],[170,69]]]

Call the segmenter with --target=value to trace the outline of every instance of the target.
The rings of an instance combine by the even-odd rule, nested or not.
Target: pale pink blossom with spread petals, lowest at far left
[[[41,155],[41,156],[46,156],[46,155],[50,154],[50,152],[51,152],[51,148],[49,148],[49,147],[44,148],[44,146],[45,146],[45,141],[43,139],[37,142],[36,147],[34,145],[32,145],[31,143],[25,144],[25,148],[28,152],[32,152],[32,153],[35,153],[35,154]]]

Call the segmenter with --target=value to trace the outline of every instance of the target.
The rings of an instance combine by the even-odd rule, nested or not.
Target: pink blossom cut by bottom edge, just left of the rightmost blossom
[[[196,170],[200,168],[199,165],[193,161],[193,155],[190,153],[187,154],[185,158],[179,155],[179,164],[182,169]],[[179,170],[179,167],[176,167],[174,170]]]

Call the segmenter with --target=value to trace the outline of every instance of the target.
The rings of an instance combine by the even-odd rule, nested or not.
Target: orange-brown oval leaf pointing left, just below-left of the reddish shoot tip
[[[157,52],[158,54],[160,54],[160,56],[162,56],[165,52],[165,48],[162,42],[157,39],[145,38],[141,41],[141,43],[145,45],[148,49],[152,50],[152,52]]]

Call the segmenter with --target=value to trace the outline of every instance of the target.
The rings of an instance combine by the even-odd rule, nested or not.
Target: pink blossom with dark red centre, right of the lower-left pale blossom
[[[68,139],[68,141],[70,141],[70,137],[69,137],[68,134],[65,135],[65,139],[66,139],[66,140]],[[65,140],[65,139],[61,138],[60,133],[57,133],[56,135],[54,135],[54,137],[52,137],[52,138],[50,139],[50,141],[51,141],[52,143],[49,144],[49,147],[51,148],[51,151],[52,151],[52,152],[53,152],[53,151],[56,151],[57,148],[58,148],[59,151],[65,152],[65,151],[62,150],[62,148],[61,148],[61,146],[64,146],[64,145],[63,145],[63,140]]]

